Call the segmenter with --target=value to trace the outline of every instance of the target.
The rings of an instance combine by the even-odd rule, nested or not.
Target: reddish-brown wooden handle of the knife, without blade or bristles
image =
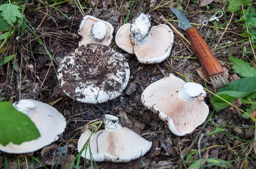
[[[187,28],[185,34],[191,43],[195,56],[199,59],[203,67],[204,74],[209,78],[223,74],[224,70],[218,60],[212,55],[207,43],[200,36],[196,28]]]

